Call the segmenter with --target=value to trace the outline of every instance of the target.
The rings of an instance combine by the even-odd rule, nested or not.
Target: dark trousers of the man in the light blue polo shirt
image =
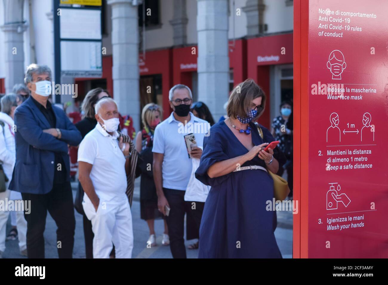
[[[185,191],[163,188],[165,197],[170,205],[170,214],[166,216],[168,235],[170,236],[170,250],[173,258],[186,258],[184,236],[185,213],[189,211],[185,203]]]

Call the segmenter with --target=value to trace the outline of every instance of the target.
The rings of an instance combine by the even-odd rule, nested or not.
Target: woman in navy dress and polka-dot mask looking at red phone
[[[267,211],[274,198],[274,182],[267,168],[277,173],[285,157],[256,120],[265,94],[252,79],[240,83],[230,95],[228,119],[205,136],[196,178],[210,185],[199,230],[199,258],[281,258],[274,231],[276,212]],[[246,167],[248,166],[248,167]]]

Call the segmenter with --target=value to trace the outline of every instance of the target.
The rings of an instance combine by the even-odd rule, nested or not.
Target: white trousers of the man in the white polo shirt
[[[128,200],[122,204],[102,202],[97,212],[91,202],[82,202],[85,215],[92,222],[93,258],[131,258],[133,249],[132,214]]]

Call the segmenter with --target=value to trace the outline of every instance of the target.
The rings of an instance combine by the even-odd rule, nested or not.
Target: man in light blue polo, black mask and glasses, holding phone
[[[190,155],[201,158],[203,138],[209,123],[190,112],[192,94],[189,87],[182,84],[173,86],[169,100],[174,111],[156,126],[154,133],[154,181],[159,211],[166,215],[166,209],[170,209],[166,221],[171,254],[174,258],[186,258],[184,217],[190,209],[184,195],[191,177],[192,161],[184,136],[194,133],[197,147],[191,148]]]

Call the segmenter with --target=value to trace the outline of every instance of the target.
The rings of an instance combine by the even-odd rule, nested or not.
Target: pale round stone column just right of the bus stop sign
[[[108,0],[112,7],[113,95],[122,115],[140,130],[139,20],[132,0]]]

